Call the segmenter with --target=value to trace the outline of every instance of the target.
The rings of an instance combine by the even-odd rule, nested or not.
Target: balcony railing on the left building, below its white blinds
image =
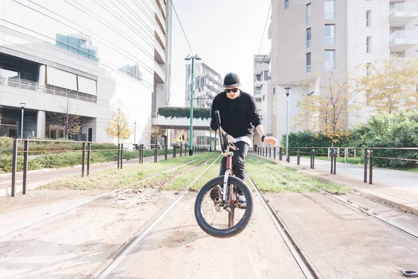
[[[53,86],[44,86],[40,85],[38,82],[33,82],[31,80],[24,80],[17,77],[1,77],[0,86],[15,87],[19,89],[26,89],[31,91],[42,91],[43,93],[48,93],[57,96],[64,96],[77,100],[84,100],[86,102],[97,103],[97,96],[85,94],[78,91],[67,90],[67,89],[55,89]]]

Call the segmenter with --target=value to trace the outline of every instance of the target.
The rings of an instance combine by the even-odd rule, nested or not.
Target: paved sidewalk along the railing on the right
[[[300,165],[296,156],[291,156],[291,163],[286,162],[285,156],[282,161],[267,159],[328,181],[345,183],[366,195],[418,214],[418,173],[373,167],[373,184],[369,184],[369,168],[368,182],[364,183],[364,165],[337,162],[336,175],[333,175],[330,174],[331,162],[327,160],[315,159],[315,169],[310,169],[310,158],[300,158]]]

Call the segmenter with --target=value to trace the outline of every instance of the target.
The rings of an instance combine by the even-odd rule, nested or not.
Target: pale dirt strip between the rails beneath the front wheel
[[[248,227],[231,239],[201,231],[195,197],[187,194],[109,278],[304,278],[258,197]]]

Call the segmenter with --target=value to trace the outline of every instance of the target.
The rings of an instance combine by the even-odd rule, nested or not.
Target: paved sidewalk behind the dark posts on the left
[[[169,158],[171,158],[169,154]],[[179,155],[177,155],[179,156]],[[164,160],[165,156],[158,156],[157,160]],[[154,157],[144,157],[144,163],[153,162]],[[138,164],[139,159],[123,160],[123,166]],[[98,163],[90,165],[90,174],[100,172],[104,169],[113,169],[118,167],[116,161],[109,163]],[[87,168],[84,169],[84,175],[87,174]],[[49,183],[56,179],[63,179],[68,176],[82,175],[82,166],[77,165],[75,167],[65,167],[61,169],[39,169],[28,172],[26,189],[34,189],[40,185]],[[22,193],[22,172],[16,174],[16,193]],[[0,197],[11,195],[12,193],[12,174],[6,174],[0,176]],[[21,195],[21,194],[20,194]]]

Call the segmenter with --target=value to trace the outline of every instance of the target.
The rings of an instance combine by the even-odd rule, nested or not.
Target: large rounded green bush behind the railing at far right
[[[353,145],[358,147],[418,147],[418,113],[379,114],[367,123],[353,129]],[[374,149],[373,156],[386,158],[417,159],[417,150]],[[378,167],[403,167],[415,165],[415,161],[375,158]]]

